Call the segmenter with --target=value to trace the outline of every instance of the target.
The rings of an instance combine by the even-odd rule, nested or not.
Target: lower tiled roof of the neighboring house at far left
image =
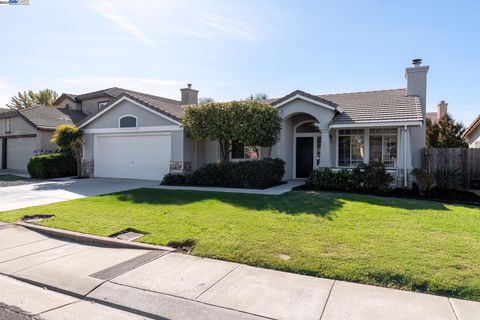
[[[39,129],[55,129],[61,124],[77,124],[87,115],[80,111],[60,109],[47,106],[35,106],[16,110],[30,124]]]

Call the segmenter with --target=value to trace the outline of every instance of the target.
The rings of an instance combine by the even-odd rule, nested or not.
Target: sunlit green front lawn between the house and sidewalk
[[[347,193],[282,196],[138,189],[0,213],[42,225],[301,274],[480,300],[480,209]],[[290,257],[289,259],[288,256]]]

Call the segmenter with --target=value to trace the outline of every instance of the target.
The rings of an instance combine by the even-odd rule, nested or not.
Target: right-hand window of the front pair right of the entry
[[[370,162],[381,161],[385,167],[396,167],[397,137],[396,128],[370,129]]]

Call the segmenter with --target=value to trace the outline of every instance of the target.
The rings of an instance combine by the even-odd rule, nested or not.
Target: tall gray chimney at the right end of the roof
[[[423,118],[427,113],[427,73],[429,66],[422,67],[422,59],[413,59],[413,67],[407,68],[407,96],[417,96],[422,105]]]

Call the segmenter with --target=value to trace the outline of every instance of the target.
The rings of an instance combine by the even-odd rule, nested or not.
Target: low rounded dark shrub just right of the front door
[[[307,185],[318,190],[353,189],[352,173],[346,169],[332,171],[329,168],[317,168],[307,179]]]

